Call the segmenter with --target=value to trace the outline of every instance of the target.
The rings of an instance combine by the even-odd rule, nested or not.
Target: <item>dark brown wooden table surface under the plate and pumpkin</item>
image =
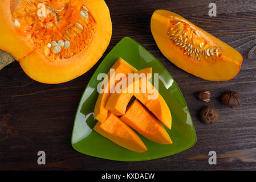
[[[0,170],[13,169],[127,169],[205,170],[256,169],[256,3],[216,1],[217,17],[209,17],[213,1],[129,0],[106,1],[113,35],[107,51],[86,74],[58,85],[31,80],[18,62],[0,72]],[[194,77],[170,63],[159,51],[150,29],[156,9],[174,11],[237,49],[243,55],[233,80],[212,82]],[[71,146],[76,109],[88,81],[105,55],[121,38],[143,45],[168,69],[180,86],[196,127],[197,143],[184,152],[146,162],[116,162],[79,154]],[[212,92],[212,101],[197,100],[194,93]],[[233,109],[221,104],[226,90],[242,94]],[[198,118],[204,106],[214,106],[220,120],[205,125]],[[37,164],[37,152],[46,152],[46,165]],[[208,152],[217,152],[217,164],[208,164]]]

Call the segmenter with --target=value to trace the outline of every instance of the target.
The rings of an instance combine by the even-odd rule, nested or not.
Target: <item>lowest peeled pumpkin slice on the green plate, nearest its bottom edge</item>
[[[97,122],[94,130],[103,137],[128,150],[135,152],[145,152],[148,150],[135,131],[112,113],[108,113],[108,117],[104,123]]]

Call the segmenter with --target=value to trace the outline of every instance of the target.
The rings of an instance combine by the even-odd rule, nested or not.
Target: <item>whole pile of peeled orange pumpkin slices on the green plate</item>
[[[119,146],[135,152],[148,150],[135,131],[153,142],[172,144],[169,134],[159,122],[171,129],[172,115],[164,98],[148,81],[152,68],[137,71],[120,58],[111,69],[115,69],[115,74],[108,72],[102,82],[102,93],[96,101],[94,111],[98,122],[94,130]],[[123,77],[119,78],[119,73],[123,73]],[[135,74],[140,76],[139,79],[130,81],[130,76],[134,78]],[[126,86],[121,86],[124,83]],[[136,85],[139,85],[138,90],[135,90]],[[121,89],[116,92],[118,87]],[[150,91],[148,88],[151,88]],[[150,96],[156,97],[149,99]],[[136,100],[128,106],[132,97],[136,97]]]

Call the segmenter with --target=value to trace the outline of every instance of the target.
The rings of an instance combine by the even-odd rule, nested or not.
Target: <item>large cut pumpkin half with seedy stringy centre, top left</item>
[[[0,49],[47,84],[86,73],[112,35],[103,0],[1,0],[0,27]]]

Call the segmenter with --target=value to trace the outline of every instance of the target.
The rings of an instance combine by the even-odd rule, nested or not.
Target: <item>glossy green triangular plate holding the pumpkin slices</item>
[[[165,129],[172,138],[173,144],[158,144],[138,134],[148,151],[137,153],[118,146],[92,130],[97,122],[94,118],[94,106],[98,96],[97,84],[101,81],[97,80],[97,75],[107,73],[119,57],[138,70],[152,67],[153,73],[159,73],[159,92],[172,113],[172,130],[166,127]],[[76,151],[97,158],[140,161],[162,158],[187,150],[196,143],[196,132],[188,106],[170,73],[156,57],[135,40],[123,38],[96,69],[83,93],[76,112],[71,143]]]

